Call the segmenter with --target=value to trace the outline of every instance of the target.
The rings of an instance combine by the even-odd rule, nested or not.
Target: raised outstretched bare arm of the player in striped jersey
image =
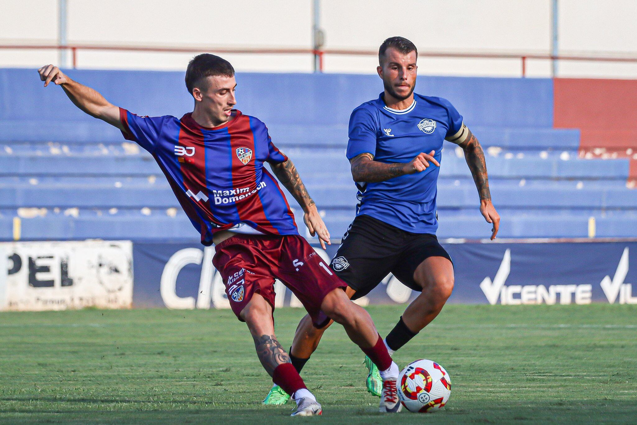
[[[45,65],[38,69],[38,74],[40,80],[44,82],[44,87],[47,87],[51,82],[60,85],[71,102],[83,112],[88,113],[91,117],[104,120],[120,130],[124,129],[119,118],[119,108],[109,103],[104,99],[104,96],[95,90],[71,80],[57,66]]]

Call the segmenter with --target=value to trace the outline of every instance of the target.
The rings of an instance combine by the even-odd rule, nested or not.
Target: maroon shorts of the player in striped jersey
[[[274,285],[275,279],[279,279],[301,301],[314,326],[322,328],[329,321],[320,310],[323,299],[334,289],[347,286],[308,241],[297,234],[241,234],[215,245],[215,251],[212,263],[224,278],[225,294],[241,321],[241,310],[255,292],[274,311]]]

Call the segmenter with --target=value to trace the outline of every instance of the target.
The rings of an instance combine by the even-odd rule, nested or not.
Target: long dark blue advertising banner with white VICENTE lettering
[[[442,242],[454,261],[450,303],[637,303],[636,241]],[[315,249],[329,261],[338,245],[327,252]],[[224,284],[212,265],[214,252],[214,247],[197,243],[134,243],[133,305],[228,308]],[[276,306],[301,306],[281,282],[275,289]],[[415,296],[417,292],[388,275],[357,302],[404,303]]]

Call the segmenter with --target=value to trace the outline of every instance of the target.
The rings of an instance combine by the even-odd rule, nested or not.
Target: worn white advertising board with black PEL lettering
[[[131,241],[0,243],[0,310],[130,308]]]

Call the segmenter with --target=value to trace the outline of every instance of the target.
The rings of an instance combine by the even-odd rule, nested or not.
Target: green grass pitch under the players
[[[383,335],[402,306],[370,307]],[[289,347],[300,309],[277,310]],[[266,407],[271,381],[229,310],[0,313],[0,422],[287,421],[348,424],[632,422],[637,306],[461,306],[395,356],[452,377],[447,407],[376,413],[362,353],[334,326],[303,371],[322,418]]]

